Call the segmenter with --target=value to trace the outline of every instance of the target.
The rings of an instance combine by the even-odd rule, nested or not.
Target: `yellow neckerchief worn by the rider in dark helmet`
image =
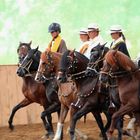
[[[51,50],[51,52],[57,52],[58,51],[61,40],[62,40],[62,38],[58,35],[57,38],[55,38],[54,40],[52,40],[49,43],[48,48]],[[52,44],[53,41],[54,41],[54,43]]]

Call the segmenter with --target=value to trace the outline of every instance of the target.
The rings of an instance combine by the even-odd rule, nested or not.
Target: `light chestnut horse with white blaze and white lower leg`
[[[35,79],[37,81],[45,81],[46,79],[52,79],[54,77],[54,79],[57,80],[56,76],[59,72],[59,62],[61,57],[62,54],[51,52],[50,50],[43,52],[41,54],[40,64]],[[77,89],[74,82],[63,84],[56,81],[56,85],[59,86],[58,96],[61,102],[61,111],[56,134],[53,140],[60,140],[63,139],[64,121],[68,114],[71,103],[76,99]],[[72,114],[73,112],[71,111],[70,113]]]

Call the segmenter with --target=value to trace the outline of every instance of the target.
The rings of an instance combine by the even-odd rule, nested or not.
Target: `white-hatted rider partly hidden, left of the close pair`
[[[79,52],[84,54],[88,49],[89,35],[88,30],[83,28],[79,31],[80,40],[82,42]]]

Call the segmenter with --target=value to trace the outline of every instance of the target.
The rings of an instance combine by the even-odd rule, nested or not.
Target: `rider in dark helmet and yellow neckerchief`
[[[48,32],[52,36],[52,40],[48,45],[47,49],[50,49],[52,52],[64,53],[67,50],[65,41],[61,38],[61,27],[58,23],[52,23],[48,27]]]

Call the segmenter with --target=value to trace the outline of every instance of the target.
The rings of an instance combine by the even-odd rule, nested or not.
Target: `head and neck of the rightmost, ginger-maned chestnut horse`
[[[131,76],[131,72],[135,72],[137,67],[134,62],[124,53],[117,50],[109,50],[105,55],[103,67],[100,72],[100,81],[107,82],[111,77],[122,77],[126,74]]]

